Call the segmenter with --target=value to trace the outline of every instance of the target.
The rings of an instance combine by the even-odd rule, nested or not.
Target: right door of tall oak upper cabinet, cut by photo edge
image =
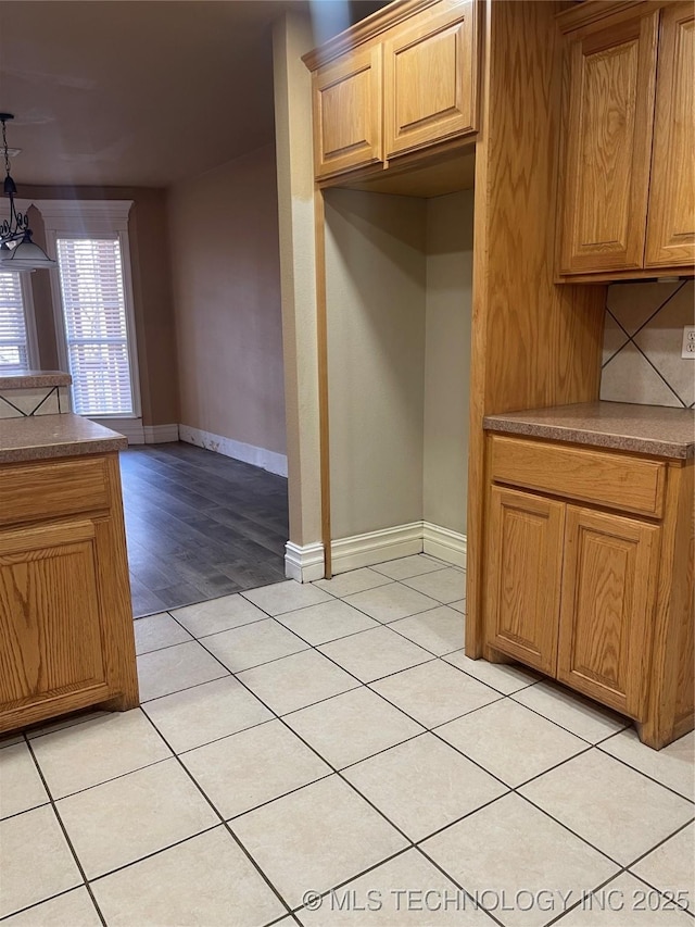
[[[695,11],[661,13],[645,265],[695,261]]]

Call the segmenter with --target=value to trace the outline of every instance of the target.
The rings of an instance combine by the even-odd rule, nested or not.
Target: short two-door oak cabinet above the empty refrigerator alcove
[[[392,3],[304,58],[324,179],[475,133],[473,0]]]

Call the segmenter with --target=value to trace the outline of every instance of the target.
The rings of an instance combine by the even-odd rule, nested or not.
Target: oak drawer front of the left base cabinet
[[[0,468],[0,525],[108,508],[103,458]]]

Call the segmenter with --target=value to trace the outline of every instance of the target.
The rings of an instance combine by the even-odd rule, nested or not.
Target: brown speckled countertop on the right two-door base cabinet
[[[695,455],[695,411],[628,402],[579,402],[486,415],[489,431],[527,435],[574,444],[594,444],[688,459]]]

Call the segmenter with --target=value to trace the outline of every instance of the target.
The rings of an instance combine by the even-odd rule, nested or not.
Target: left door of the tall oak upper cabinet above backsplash
[[[570,42],[560,273],[642,267],[658,15]]]

